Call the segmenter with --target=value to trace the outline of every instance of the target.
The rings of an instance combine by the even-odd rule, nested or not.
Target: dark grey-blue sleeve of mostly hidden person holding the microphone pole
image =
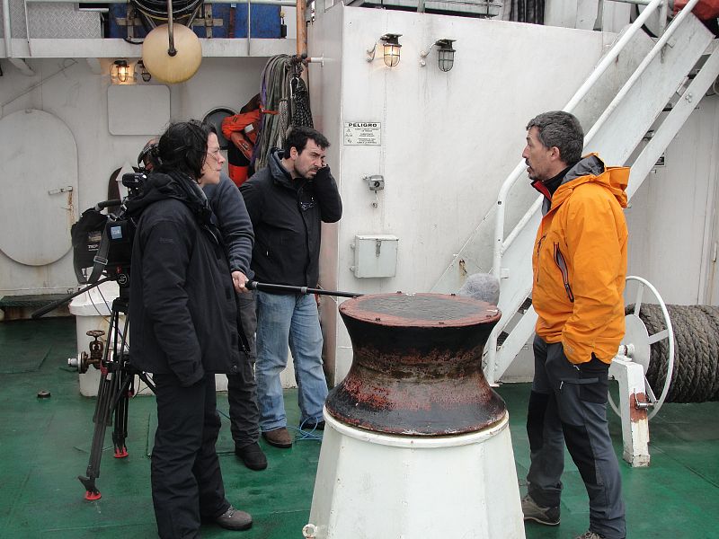
[[[223,172],[217,184],[202,187],[209,201],[209,207],[216,218],[213,222],[222,234],[227,248],[230,270],[240,270],[247,278],[253,277],[250,261],[253,256],[253,224],[244,207],[244,199],[235,182]]]

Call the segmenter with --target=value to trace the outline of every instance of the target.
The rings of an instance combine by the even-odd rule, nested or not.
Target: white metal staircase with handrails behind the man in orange
[[[597,152],[605,163],[631,166],[626,190],[630,198],[719,75],[719,47],[713,47],[714,36],[691,13],[697,1],[691,0],[661,38],[652,40],[641,30],[642,25],[652,13],[666,9],[666,0],[652,0],[619,34],[564,107],[585,128],[585,153]],[[650,131],[652,137],[647,140]],[[464,275],[489,267],[501,278],[498,306],[502,320],[484,350],[484,372],[490,384],[502,377],[531,337],[537,321],[528,297],[541,198],[525,202],[525,208],[531,206],[523,216],[516,208],[508,208],[508,201],[517,199],[510,197],[510,190],[526,176],[525,171],[522,161],[510,173],[493,210],[484,216],[432,288],[436,292],[457,290]],[[505,234],[508,214],[514,227]],[[491,260],[489,244],[493,245]]]

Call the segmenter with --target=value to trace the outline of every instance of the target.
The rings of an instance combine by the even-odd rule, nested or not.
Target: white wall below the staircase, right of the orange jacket
[[[648,279],[666,303],[717,305],[716,189],[719,96],[705,97],[626,210],[629,273]],[[712,289],[714,291],[712,292]]]

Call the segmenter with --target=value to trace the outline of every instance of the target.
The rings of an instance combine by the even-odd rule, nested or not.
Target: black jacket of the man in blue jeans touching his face
[[[273,150],[269,163],[240,187],[253,222],[252,269],[260,282],[315,287],[321,221],[342,217],[342,199],[330,169],[293,180]]]

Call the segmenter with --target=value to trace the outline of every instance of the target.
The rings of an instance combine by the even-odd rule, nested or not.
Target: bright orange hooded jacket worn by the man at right
[[[532,305],[537,335],[574,364],[605,363],[624,337],[627,167],[588,155],[564,176],[537,231]]]

